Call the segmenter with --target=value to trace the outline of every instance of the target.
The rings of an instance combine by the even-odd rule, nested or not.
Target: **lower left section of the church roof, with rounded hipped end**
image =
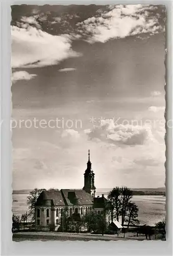
[[[51,201],[51,205],[64,206],[64,200],[60,190],[44,190],[37,199],[36,205],[46,205]]]

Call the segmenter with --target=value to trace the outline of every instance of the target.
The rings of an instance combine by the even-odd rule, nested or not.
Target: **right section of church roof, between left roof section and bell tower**
[[[93,197],[83,189],[61,189],[66,205],[93,204]]]

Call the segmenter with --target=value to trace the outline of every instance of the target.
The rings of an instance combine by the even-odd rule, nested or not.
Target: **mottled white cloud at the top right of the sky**
[[[115,5],[100,16],[89,17],[77,24],[78,32],[87,37],[87,41],[106,42],[111,38],[125,38],[143,33],[155,34],[164,28],[159,24],[156,6]]]

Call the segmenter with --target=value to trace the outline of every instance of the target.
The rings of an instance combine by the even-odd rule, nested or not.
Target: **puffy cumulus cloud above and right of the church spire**
[[[149,126],[115,125],[112,119],[103,120],[99,126],[85,131],[89,139],[116,145],[142,145],[154,140]]]

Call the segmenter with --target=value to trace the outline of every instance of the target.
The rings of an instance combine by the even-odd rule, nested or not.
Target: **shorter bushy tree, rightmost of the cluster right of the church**
[[[127,221],[128,221],[128,228],[129,225],[139,224],[139,221],[136,219],[138,217],[138,207],[134,202],[128,203],[128,214],[127,214]]]

